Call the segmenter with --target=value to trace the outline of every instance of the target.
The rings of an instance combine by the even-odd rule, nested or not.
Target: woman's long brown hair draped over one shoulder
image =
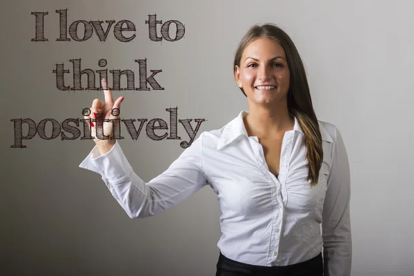
[[[235,53],[233,70],[235,66],[240,67],[240,59],[242,59],[244,49],[248,44],[262,37],[274,39],[284,48],[290,70],[290,86],[286,97],[288,112],[297,118],[299,126],[304,131],[307,150],[306,160],[308,161],[308,180],[311,179],[311,186],[315,186],[324,157],[322,136],[319,131],[315,110],[313,110],[305,68],[292,39],[290,39],[286,32],[274,24],[267,23],[262,26],[253,26],[239,43]],[[240,88],[240,90],[246,96],[243,88]]]

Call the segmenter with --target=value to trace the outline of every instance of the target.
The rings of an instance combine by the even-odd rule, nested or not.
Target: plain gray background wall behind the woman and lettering
[[[135,23],[130,43],[58,42],[59,14]],[[353,275],[412,275],[414,4],[411,1],[3,1],[1,8],[1,275],[214,275],[219,206],[211,188],[148,219],[130,219],[95,172],[79,168],[92,141],[23,141],[10,148],[10,119],[82,119],[101,92],[63,92],[55,63],[132,69],[147,58],[164,91],[114,91],[124,118],[204,118],[221,128],[247,109],[233,79],[233,54],[254,23],[272,22],[295,42],[317,117],[342,132],[351,164]],[[47,11],[47,42],[31,42],[34,16]],[[179,20],[177,42],[148,39],[148,14]],[[158,27],[159,28],[159,27]],[[68,78],[67,81],[69,81]],[[83,84],[84,86],[85,84]],[[137,175],[149,181],[183,149],[179,140],[121,141]],[[179,125],[178,135],[188,141]]]

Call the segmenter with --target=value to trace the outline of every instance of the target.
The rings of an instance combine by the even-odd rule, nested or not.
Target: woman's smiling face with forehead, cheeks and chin
[[[282,46],[268,38],[256,39],[244,49],[235,68],[237,85],[250,103],[266,104],[286,97],[290,70]]]

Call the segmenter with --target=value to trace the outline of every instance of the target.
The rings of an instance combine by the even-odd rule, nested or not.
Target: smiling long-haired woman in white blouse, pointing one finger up
[[[203,132],[155,179],[142,181],[116,140],[95,139],[81,168],[102,175],[131,218],[157,215],[209,184],[222,213],[216,275],[350,275],[348,157],[337,128],[317,121],[293,41],[277,26],[253,26],[234,72],[248,112]],[[91,110],[118,119],[110,113],[123,99],[114,103],[105,90],[106,103],[95,99]]]

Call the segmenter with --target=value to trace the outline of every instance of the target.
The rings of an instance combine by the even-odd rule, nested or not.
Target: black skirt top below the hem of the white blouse
[[[254,266],[228,259],[220,252],[216,276],[323,276],[322,253],[305,262],[289,266]]]

